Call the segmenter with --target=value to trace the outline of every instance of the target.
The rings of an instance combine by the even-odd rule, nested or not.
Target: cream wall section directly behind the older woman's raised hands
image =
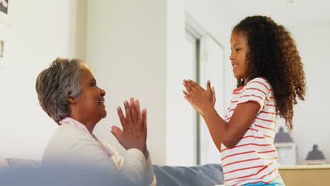
[[[147,109],[152,162],[166,163],[166,1],[87,1],[86,61],[106,90],[107,116],[94,133],[123,147],[111,134],[117,106],[130,97]]]

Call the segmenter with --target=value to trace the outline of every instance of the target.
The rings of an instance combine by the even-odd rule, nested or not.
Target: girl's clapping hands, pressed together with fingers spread
[[[215,92],[214,87],[211,88],[211,82],[207,81],[207,89],[203,89],[193,80],[183,80],[185,90],[185,99],[193,106],[193,108],[204,116],[205,109],[215,105]]]

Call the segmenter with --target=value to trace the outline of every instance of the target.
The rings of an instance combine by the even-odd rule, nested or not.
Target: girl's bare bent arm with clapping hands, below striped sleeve
[[[184,80],[183,85],[186,89],[186,92],[183,91],[185,99],[204,118],[212,140],[219,150],[221,143],[228,148],[235,146],[250,127],[260,109],[260,105],[253,101],[238,104],[231,120],[227,123],[216,113],[214,104],[209,101],[210,94],[212,94],[209,92],[209,87],[205,90],[192,80]]]

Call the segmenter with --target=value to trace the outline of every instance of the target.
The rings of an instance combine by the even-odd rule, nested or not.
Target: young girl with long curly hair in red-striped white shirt
[[[274,147],[276,116],[293,128],[293,104],[305,97],[305,73],[295,42],[264,16],[242,20],[231,34],[231,65],[238,80],[226,116],[214,109],[214,88],[183,80],[185,99],[207,123],[221,152],[225,185],[284,185]]]

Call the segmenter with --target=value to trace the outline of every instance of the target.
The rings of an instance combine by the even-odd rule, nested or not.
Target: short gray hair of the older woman
[[[68,108],[68,97],[81,95],[80,72],[83,66],[87,66],[87,63],[78,58],[56,58],[49,68],[42,70],[37,77],[35,89],[39,104],[58,124],[71,112]]]

